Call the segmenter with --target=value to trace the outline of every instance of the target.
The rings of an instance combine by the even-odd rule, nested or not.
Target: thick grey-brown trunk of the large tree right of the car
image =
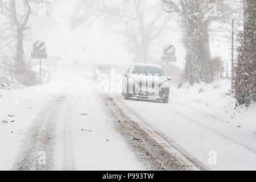
[[[186,48],[185,78],[190,85],[213,80],[208,26],[202,22],[196,1],[185,1],[183,18]]]

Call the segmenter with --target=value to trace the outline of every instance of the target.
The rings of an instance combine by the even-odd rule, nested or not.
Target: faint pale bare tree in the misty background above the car
[[[77,11],[79,15],[72,22],[80,25],[95,18],[108,18],[113,26],[118,25],[116,32],[125,37],[127,47],[135,53],[134,61],[146,63],[152,42],[170,20],[159,1],[155,2],[151,6],[146,0],[81,1]]]

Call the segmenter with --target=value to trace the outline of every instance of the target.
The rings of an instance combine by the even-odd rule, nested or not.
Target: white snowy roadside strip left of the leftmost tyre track
[[[11,169],[31,122],[44,104],[66,87],[65,81],[56,80],[41,86],[0,89],[0,170]]]

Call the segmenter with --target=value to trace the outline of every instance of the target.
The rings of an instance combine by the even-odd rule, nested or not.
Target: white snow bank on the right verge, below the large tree
[[[183,85],[180,89],[171,88],[170,94],[171,101],[181,102],[256,135],[256,103],[252,102],[248,108],[236,107],[236,100],[230,91],[230,80]]]

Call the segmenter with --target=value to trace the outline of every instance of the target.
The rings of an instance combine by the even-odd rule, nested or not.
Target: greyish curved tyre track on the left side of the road
[[[65,94],[53,96],[39,111],[23,140],[14,162],[15,171],[47,171],[54,169],[56,121],[65,100]],[[40,151],[46,152],[46,164],[39,164]],[[43,158],[42,158],[43,159]]]

